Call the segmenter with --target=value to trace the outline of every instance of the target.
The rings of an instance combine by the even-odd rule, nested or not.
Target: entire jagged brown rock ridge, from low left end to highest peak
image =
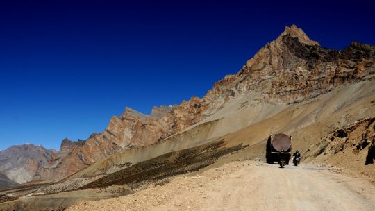
[[[253,92],[273,103],[296,103],[335,87],[372,78],[375,47],[352,42],[343,51],[320,47],[297,26],[286,27],[260,49],[238,74],[218,81],[203,99],[153,108],[151,115],[126,108],[107,128],[81,142],[63,141],[59,153],[36,174],[56,178],[72,174],[116,151],[163,141],[220,110],[228,101]]]

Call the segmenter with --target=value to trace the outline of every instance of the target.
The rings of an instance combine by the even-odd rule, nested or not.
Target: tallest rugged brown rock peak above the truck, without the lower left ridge
[[[205,99],[225,103],[255,91],[268,101],[296,103],[374,73],[374,46],[352,42],[343,51],[325,49],[293,25],[260,49],[238,74],[216,83]]]

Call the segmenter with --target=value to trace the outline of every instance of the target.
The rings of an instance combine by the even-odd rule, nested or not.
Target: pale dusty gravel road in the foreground
[[[324,167],[232,162],[68,210],[375,210],[375,186]]]

